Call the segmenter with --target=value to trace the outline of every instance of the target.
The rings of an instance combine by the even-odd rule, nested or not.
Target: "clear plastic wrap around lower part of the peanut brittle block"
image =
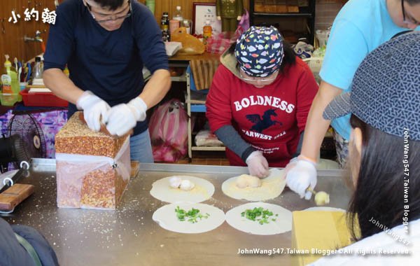
[[[130,137],[115,158],[57,153],[57,206],[116,209],[130,181]]]

